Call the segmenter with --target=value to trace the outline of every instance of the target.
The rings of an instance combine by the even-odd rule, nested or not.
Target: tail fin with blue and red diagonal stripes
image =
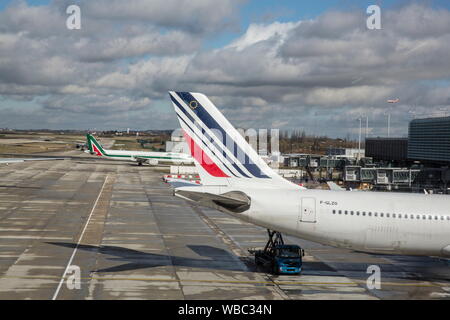
[[[203,185],[240,182],[295,185],[275,173],[203,94],[170,91]]]

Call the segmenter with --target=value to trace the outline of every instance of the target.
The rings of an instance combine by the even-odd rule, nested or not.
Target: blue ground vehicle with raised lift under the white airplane
[[[297,245],[284,244],[279,232],[267,230],[269,241],[263,250],[250,251],[255,254],[256,265],[270,268],[273,274],[299,274],[302,271],[304,251]],[[275,239],[273,237],[275,236]]]

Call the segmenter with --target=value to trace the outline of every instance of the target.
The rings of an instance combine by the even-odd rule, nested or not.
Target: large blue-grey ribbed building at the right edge
[[[408,158],[450,163],[450,117],[412,120],[409,123]]]

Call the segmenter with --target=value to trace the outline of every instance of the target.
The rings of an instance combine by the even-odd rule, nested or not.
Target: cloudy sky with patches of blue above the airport
[[[450,1],[1,0],[0,127],[173,129],[168,90],[239,127],[405,135],[450,115]]]

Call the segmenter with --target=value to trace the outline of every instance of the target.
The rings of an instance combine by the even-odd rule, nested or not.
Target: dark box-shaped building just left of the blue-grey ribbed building
[[[367,138],[366,156],[374,161],[407,161],[408,138]]]

